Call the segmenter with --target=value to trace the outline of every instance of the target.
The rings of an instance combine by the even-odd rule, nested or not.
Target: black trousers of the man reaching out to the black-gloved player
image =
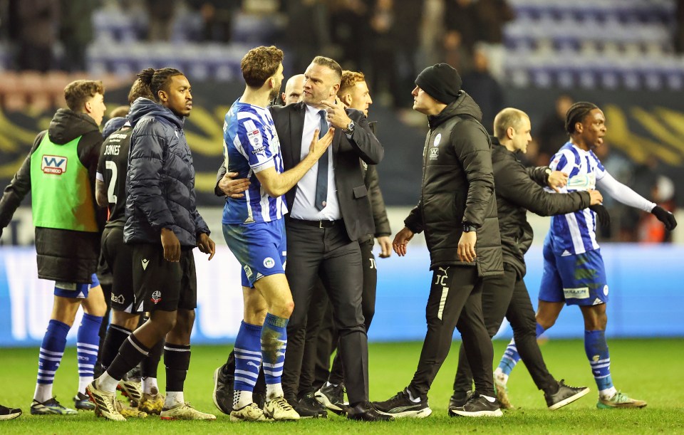
[[[534,384],[544,392],[553,392],[556,388],[556,379],[546,369],[544,358],[541,357],[541,350],[537,344],[537,320],[534,318],[534,309],[529,300],[525,281],[519,278],[512,266],[504,264],[504,271],[503,275],[484,280],[484,325],[489,337],[494,337],[505,315],[513,328],[513,337],[520,358],[525,363]],[[469,392],[472,389],[472,373],[466,354],[461,346],[454,380],[454,391],[457,393]]]

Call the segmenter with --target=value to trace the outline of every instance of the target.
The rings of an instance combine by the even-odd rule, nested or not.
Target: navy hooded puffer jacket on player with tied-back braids
[[[197,212],[195,167],[183,120],[171,110],[138,98],[128,112],[133,127],[128,153],[126,243],[161,243],[172,229],[184,248],[197,246],[209,227]]]

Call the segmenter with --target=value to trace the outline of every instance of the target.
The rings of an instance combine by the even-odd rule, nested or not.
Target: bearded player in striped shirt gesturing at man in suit
[[[333,129],[314,133],[309,154],[284,172],[278,134],[266,106],[283,80],[283,52],[274,46],[253,48],[242,58],[246,87],[224,122],[224,158],[228,172],[249,179],[239,198],[228,196],[223,234],[242,266],[244,320],[235,340],[233,421],[299,419],[283,397],[281,374],[287,345],[286,325],[294,308],[284,265],[287,248],[284,194],[318,161],[332,142]],[[264,364],[266,404],[253,403],[252,391]]]

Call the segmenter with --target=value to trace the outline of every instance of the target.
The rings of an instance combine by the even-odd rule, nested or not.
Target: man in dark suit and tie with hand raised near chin
[[[283,371],[285,397],[296,409],[304,351],[306,316],[316,278],[333,304],[350,402],[348,418],[385,419],[368,402],[368,339],[361,313],[363,269],[358,238],[375,232],[368,190],[358,159],[378,164],[383,147],[363,112],[345,110],[336,100],[342,68],[317,56],[304,73],[301,103],[271,108],[285,170],[302,158],[304,137],[323,124],[335,127],[333,144],[318,164],[286,194],[289,248],[286,276],[294,298],[287,326],[288,357]],[[327,131],[327,130],[326,130]],[[326,164],[327,163],[327,164]],[[327,167],[326,167],[327,166]],[[299,410],[298,410],[299,411]]]

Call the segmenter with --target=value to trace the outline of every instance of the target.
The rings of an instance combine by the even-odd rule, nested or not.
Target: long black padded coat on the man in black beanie
[[[481,117],[463,91],[439,115],[427,117],[423,192],[404,224],[414,233],[425,231],[431,269],[460,264],[477,266],[480,276],[503,271],[491,144]],[[477,226],[474,263],[457,255],[464,222]]]

